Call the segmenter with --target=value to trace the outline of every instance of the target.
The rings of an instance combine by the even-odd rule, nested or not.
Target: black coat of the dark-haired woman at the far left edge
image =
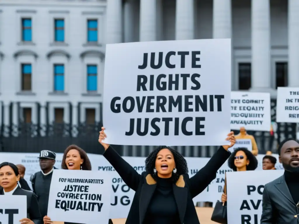
[[[0,195],[4,195],[3,188],[0,190]],[[24,218],[30,219],[34,224],[43,224],[38,201],[32,191],[26,191],[18,186],[13,195],[25,195],[27,197],[27,217]]]

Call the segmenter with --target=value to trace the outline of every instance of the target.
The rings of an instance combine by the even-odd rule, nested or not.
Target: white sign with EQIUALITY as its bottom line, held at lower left
[[[108,223],[111,177],[106,172],[54,170],[48,216],[53,221]]]

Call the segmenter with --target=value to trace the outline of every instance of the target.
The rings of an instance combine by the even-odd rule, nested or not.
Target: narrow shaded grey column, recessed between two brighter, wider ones
[[[123,5],[123,36],[125,43],[133,42],[134,18],[132,4],[132,0],[127,0]]]

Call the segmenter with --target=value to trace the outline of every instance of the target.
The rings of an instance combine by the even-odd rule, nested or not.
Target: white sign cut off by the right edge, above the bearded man
[[[276,102],[276,122],[299,123],[299,87],[278,87]]]

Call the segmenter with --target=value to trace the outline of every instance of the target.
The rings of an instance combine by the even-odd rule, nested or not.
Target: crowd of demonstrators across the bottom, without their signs
[[[244,132],[246,135],[246,131]],[[242,133],[242,138],[244,137]],[[187,162],[173,148],[160,146],[146,158],[146,171],[138,174],[108,144],[104,128],[100,131],[99,142],[105,152],[103,156],[111,163],[123,181],[135,191],[134,199],[126,223],[198,223],[193,198],[200,194],[216,178],[218,169],[228,161],[233,171],[253,171],[258,162],[255,152],[247,148],[228,151],[235,142],[234,133],[228,134],[231,145],[221,146],[210,161],[193,177],[188,176]],[[249,137],[248,137],[249,138]],[[254,154],[255,153],[255,154]],[[285,172],[283,176],[265,185],[263,192],[263,214],[261,224],[291,223],[290,217],[299,215],[299,143],[286,139],[278,147],[279,162]],[[41,171],[30,177],[33,191],[24,179],[25,167],[9,162],[0,164],[0,195],[25,195],[27,197],[27,217],[20,220],[24,224],[53,223],[47,216],[48,200],[53,170],[56,169],[55,152],[42,150],[39,154]],[[263,170],[275,170],[277,159],[271,155],[263,157]],[[86,152],[77,145],[65,149],[62,169],[91,170]],[[226,205],[227,195],[221,201]],[[184,206],[182,206],[184,205]],[[297,205],[297,207],[296,207]],[[65,224],[79,224],[68,223]],[[109,224],[113,224],[109,220]]]

